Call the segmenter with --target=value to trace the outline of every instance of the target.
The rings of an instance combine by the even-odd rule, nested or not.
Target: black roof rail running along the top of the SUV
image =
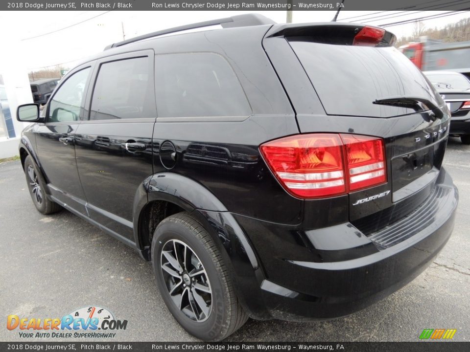
[[[237,16],[227,17],[223,19],[218,19],[218,20],[210,20],[210,21],[204,21],[204,22],[198,22],[198,23],[192,23],[192,24],[185,24],[179,27],[173,27],[173,28],[168,28],[168,29],[164,29],[161,31],[153,32],[153,33],[143,34],[138,37],[126,39],[122,42],[110,44],[106,46],[104,49],[108,50],[113,47],[139,42],[144,39],[158,37],[164,34],[176,33],[176,32],[181,32],[181,31],[188,30],[188,29],[196,29],[196,28],[208,27],[208,26],[218,25],[218,24],[220,24],[223,28],[231,28],[231,27],[246,27],[246,26],[262,25],[262,24],[276,24],[276,22],[259,14],[237,15]]]

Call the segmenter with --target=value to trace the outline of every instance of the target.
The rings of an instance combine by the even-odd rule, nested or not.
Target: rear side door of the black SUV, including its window
[[[128,242],[134,196],[153,170],[153,63],[151,50],[97,61],[89,110],[75,137],[90,217]]]

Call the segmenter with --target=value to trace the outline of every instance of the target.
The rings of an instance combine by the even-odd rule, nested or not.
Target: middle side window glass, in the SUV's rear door
[[[148,60],[148,57],[141,57],[101,65],[94,86],[90,120],[148,117],[144,113],[149,112],[147,102],[153,94]]]

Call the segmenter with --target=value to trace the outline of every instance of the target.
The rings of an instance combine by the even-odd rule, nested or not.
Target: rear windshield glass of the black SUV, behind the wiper
[[[376,105],[376,99],[415,96],[437,103],[438,95],[394,47],[366,47],[290,41],[327,114],[392,117],[414,113]],[[439,104],[438,104],[439,105]]]

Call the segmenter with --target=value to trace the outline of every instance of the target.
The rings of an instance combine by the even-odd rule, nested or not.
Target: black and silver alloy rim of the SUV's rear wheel
[[[169,240],[162,248],[160,260],[165,286],[176,307],[195,322],[208,319],[211,284],[194,250],[182,241]]]

